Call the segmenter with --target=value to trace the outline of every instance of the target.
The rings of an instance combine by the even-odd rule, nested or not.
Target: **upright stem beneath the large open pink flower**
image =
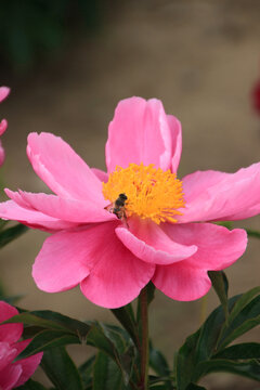
[[[140,292],[140,314],[141,314],[141,380],[140,389],[148,389],[148,300],[147,288],[144,287]]]

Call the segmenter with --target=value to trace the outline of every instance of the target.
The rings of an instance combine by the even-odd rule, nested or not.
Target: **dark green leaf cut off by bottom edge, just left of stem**
[[[99,352],[94,363],[93,390],[125,390],[123,377],[117,364],[105,353]]]

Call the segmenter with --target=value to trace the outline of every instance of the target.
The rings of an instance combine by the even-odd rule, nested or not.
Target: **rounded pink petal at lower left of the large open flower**
[[[32,266],[32,277],[38,288],[58,292],[77,286],[89,275],[87,246],[87,229],[48,237]]]

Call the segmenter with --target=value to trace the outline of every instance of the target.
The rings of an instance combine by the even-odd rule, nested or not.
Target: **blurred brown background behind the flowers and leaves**
[[[197,169],[234,172],[260,160],[260,118],[251,90],[260,78],[258,0],[6,0],[0,2],[0,86],[12,89],[0,106],[5,186],[47,191],[26,157],[31,131],[61,135],[91,167],[105,169],[107,125],[119,100],[157,98],[183,127],[179,177]],[[4,195],[1,194],[2,199]],[[260,229],[260,217],[236,226]],[[30,231],[1,251],[9,295],[25,309],[52,309],[79,318],[114,321],[79,288],[37,289],[31,265],[47,235]],[[260,243],[226,274],[230,294],[259,285]],[[218,304],[210,291],[207,313]],[[202,300],[180,303],[160,292],[151,307],[151,334],[169,359],[197,329]],[[247,340],[260,341],[259,329]],[[256,340],[257,339],[257,340]],[[87,347],[70,348],[80,362]],[[41,374],[38,373],[36,378]],[[211,390],[260,389],[232,375],[211,375]]]

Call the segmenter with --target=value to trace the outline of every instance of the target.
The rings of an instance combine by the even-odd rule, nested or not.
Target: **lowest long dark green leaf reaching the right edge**
[[[260,381],[260,363],[257,360],[237,362],[232,360],[214,359],[208,362],[200,362],[197,367],[197,374],[199,377],[210,373],[220,372],[242,375]]]

